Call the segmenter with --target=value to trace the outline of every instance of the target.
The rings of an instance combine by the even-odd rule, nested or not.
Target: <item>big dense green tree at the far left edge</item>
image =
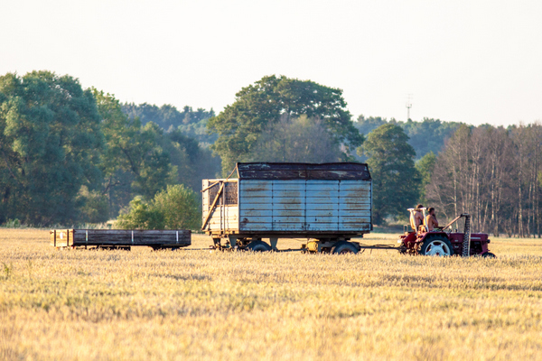
[[[81,186],[101,185],[96,102],[77,79],[50,71],[0,77],[0,222],[68,223]]]

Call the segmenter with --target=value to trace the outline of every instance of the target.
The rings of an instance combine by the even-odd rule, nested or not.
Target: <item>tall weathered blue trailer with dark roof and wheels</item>
[[[306,238],[307,251],[357,253],[350,239],[372,230],[367,164],[250,162],[236,171],[202,181],[201,229],[217,248],[268,251],[278,238]]]

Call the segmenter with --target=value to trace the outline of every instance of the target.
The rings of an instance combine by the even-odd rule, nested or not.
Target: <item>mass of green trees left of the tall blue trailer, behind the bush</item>
[[[179,127],[143,125],[114,96],[50,71],[0,77],[0,157],[0,223],[104,222],[135,198],[168,185],[197,191],[220,172]]]

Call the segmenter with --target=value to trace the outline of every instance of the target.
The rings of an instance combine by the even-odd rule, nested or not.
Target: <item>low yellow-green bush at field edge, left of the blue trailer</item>
[[[200,225],[196,194],[182,184],[167,186],[148,203],[136,197],[117,222],[123,229],[196,229]]]

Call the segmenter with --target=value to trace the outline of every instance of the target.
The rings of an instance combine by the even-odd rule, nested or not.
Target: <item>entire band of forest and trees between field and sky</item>
[[[196,229],[201,180],[227,176],[235,162],[367,162],[376,225],[404,220],[421,202],[443,220],[471,213],[475,229],[494,235],[539,235],[541,143],[538,123],[353,119],[341,89],[284,76],[242,88],[217,115],[121,103],[50,71],[8,73],[0,77],[0,224],[120,216],[126,227]],[[174,204],[189,216],[173,215]]]

